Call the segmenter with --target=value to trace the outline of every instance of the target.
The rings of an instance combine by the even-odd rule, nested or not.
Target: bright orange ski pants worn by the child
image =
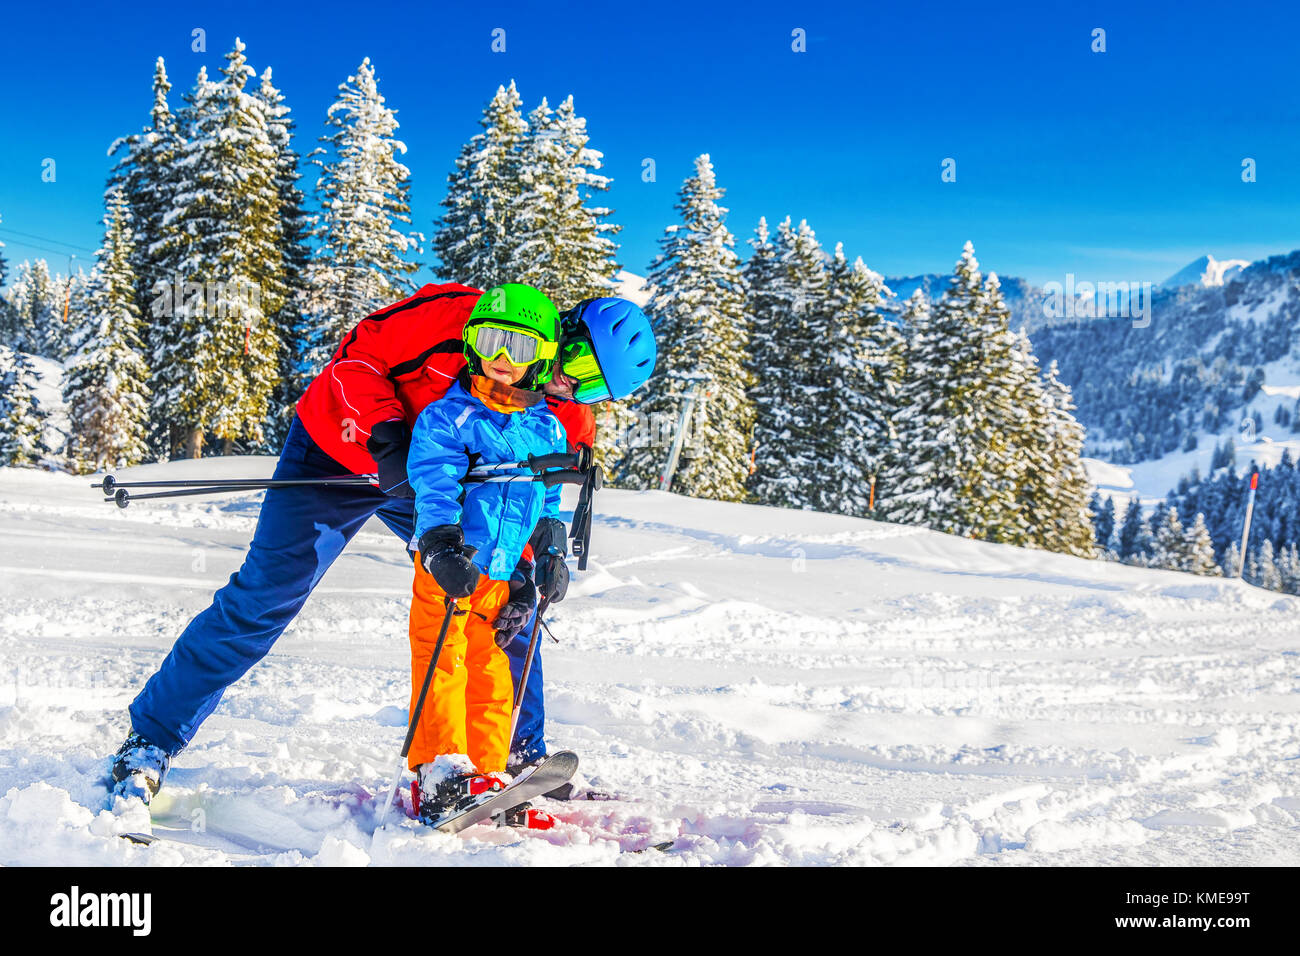
[[[486,575],[456,601],[447,641],[429,684],[407,763],[415,770],[442,753],[464,753],[480,773],[506,769],[515,685],[510,658],[494,640],[497,611],[510,600],[510,581]],[[411,601],[411,706],[415,713],[429,659],[446,614],[446,592],[415,562]],[[456,613],[459,611],[459,613]]]

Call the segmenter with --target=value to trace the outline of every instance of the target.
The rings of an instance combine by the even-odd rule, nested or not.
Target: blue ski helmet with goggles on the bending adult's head
[[[659,350],[641,307],[628,299],[584,299],[560,315],[560,371],[577,378],[582,405],[627,398],[654,372]]]

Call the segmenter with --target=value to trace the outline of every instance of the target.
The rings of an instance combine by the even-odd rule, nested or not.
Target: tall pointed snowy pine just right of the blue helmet
[[[749,472],[754,412],[746,399],[749,347],[745,297],[736,241],[719,206],[708,153],[696,159],[696,173],[679,193],[681,222],[670,225],[650,267],[647,312],[653,316],[659,360],[634,405],[647,421],[671,423],[641,446],[628,450],[620,467],[637,488],[658,488],[682,403],[699,382],[688,423],[689,437],[672,479],[672,490],[698,498],[740,501]],[[688,454],[688,449],[689,453]]]

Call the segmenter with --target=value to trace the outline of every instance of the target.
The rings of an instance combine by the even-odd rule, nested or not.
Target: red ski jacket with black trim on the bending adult
[[[455,282],[426,285],[363,319],[298,399],[298,418],[321,450],[354,473],[373,473],[370,429],[391,419],[413,425],[442,398],[465,367],[460,334],[480,295]],[[546,403],[571,446],[594,442],[589,406],[551,397]]]

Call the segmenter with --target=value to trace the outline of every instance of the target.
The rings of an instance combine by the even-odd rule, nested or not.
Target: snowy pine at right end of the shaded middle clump
[[[820,367],[828,395],[827,467],[812,488],[811,506],[868,515],[872,481],[896,455],[893,416],[905,343],[881,311],[889,294],[884,280],[862,259],[850,264],[842,243],[835,247],[827,277],[831,330]]]

